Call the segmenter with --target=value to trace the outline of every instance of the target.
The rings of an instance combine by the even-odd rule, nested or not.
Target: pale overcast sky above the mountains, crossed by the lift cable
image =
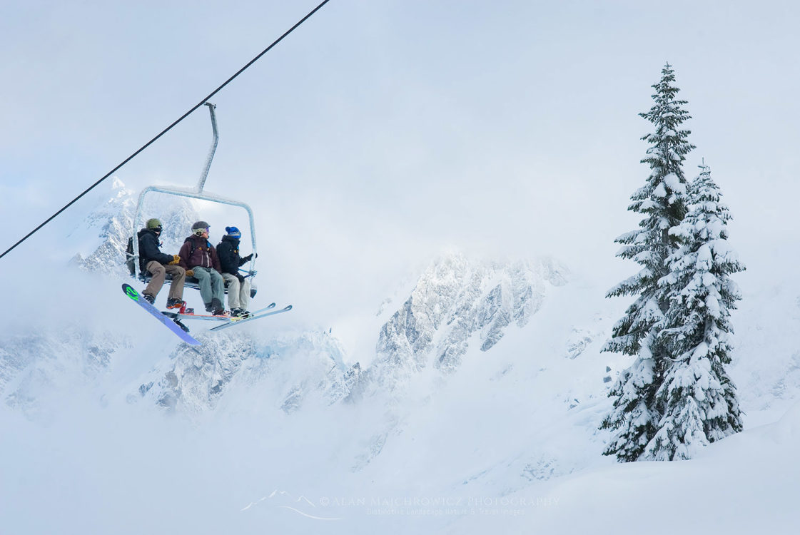
[[[2,2],[0,250],[317,3]],[[446,248],[554,254],[610,287],[636,270],[613,240],[638,222],[638,113],[670,62],[686,174],[706,159],[746,276],[767,273],[797,243],[798,23],[788,1],[331,0],[213,99],[206,190],[254,207],[271,277],[335,299],[374,300]],[[210,139],[203,107],[116,176],[194,186]]]

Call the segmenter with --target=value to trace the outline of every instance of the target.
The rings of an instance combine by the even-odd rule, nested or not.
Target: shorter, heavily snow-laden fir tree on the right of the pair
[[[662,413],[643,458],[687,459],[694,449],[742,430],[730,363],[730,310],[741,299],[730,274],[745,268],[728,245],[730,213],[708,167],[690,184],[689,211],[670,229],[680,249],[659,281],[670,295],[659,333],[670,359],[656,394]]]

